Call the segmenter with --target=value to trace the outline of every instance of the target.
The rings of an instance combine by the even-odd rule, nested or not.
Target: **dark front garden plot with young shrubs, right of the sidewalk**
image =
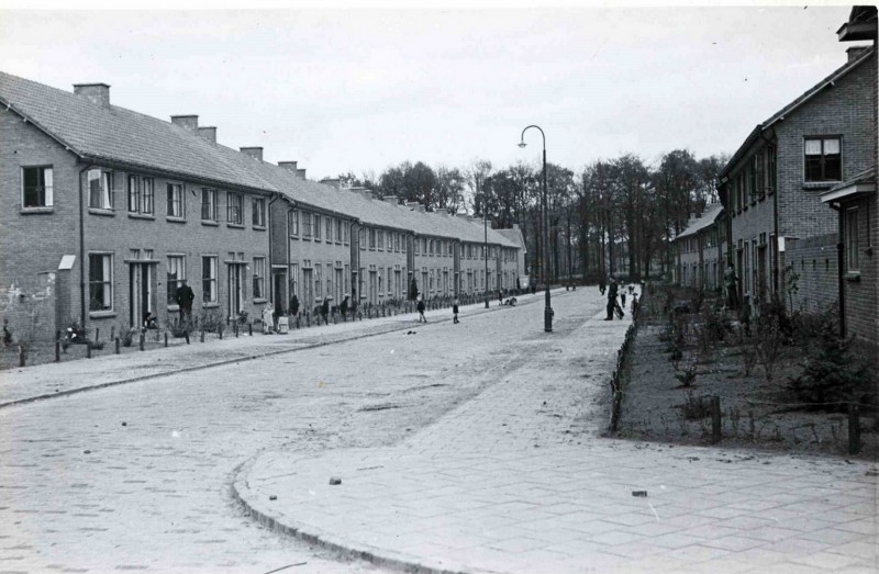
[[[716,300],[702,304],[721,306]],[[700,345],[700,315],[689,313],[696,335],[690,333],[676,345],[674,315],[665,315],[665,306],[656,296],[642,307],[625,373],[620,437],[709,444],[710,397],[716,396],[721,405],[721,447],[849,457],[847,412],[832,406],[815,408],[790,390],[791,379],[803,373],[804,358],[810,352],[802,342],[788,340],[780,346],[774,358],[771,381],[767,381],[761,360],[755,356],[759,340],[755,339],[755,329],[746,335],[742,325],[734,325],[723,340]],[[756,354],[765,356],[766,344],[761,344],[764,348]],[[861,449],[856,458],[877,460],[876,407],[867,404],[859,410]]]

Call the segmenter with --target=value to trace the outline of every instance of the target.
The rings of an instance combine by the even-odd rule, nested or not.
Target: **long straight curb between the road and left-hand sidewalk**
[[[558,296],[558,295],[556,295],[556,296]],[[523,305],[531,305],[531,304],[534,304],[537,301],[542,301],[542,299],[541,297],[533,297],[533,299],[526,300],[526,301],[523,302]],[[481,303],[474,303],[474,305],[481,305]],[[497,312],[497,311],[500,311],[502,308],[503,308],[503,305],[496,305],[494,307],[489,307],[488,309],[486,309],[485,307],[479,307],[479,308],[475,309],[475,313],[471,313],[469,315],[470,316],[482,315],[485,313]],[[386,317],[381,317],[381,318],[386,318]],[[452,320],[452,318],[443,318],[443,319],[438,319],[438,320],[433,320],[431,323],[434,324],[434,325],[437,325],[437,324],[447,323],[447,322],[450,322],[450,320]],[[419,323],[419,325],[421,326],[422,324]],[[426,325],[426,324],[424,324],[424,325]],[[179,369],[173,369],[173,370],[164,371],[164,372],[160,372],[160,373],[152,373],[152,374],[145,374],[145,375],[142,375],[142,376],[134,376],[134,378],[131,378],[131,379],[123,379],[121,381],[110,381],[110,382],[107,382],[107,383],[100,383],[100,384],[96,384],[96,385],[88,385],[88,386],[80,386],[80,387],[77,387],[77,389],[69,389],[67,391],[58,391],[57,393],[47,393],[47,394],[42,394],[42,395],[29,396],[29,397],[25,397],[25,398],[16,398],[14,401],[7,401],[4,403],[0,403],[0,409],[8,408],[8,407],[13,407],[13,406],[26,405],[26,404],[30,404],[30,403],[36,403],[38,401],[48,401],[48,399],[52,399],[52,398],[60,398],[63,396],[70,396],[70,395],[75,395],[75,394],[79,394],[79,393],[86,393],[86,392],[89,392],[89,391],[100,391],[101,389],[109,389],[109,387],[112,387],[112,386],[118,386],[118,385],[123,385],[123,384],[138,383],[138,382],[142,382],[142,381],[148,381],[151,379],[158,379],[158,378],[162,378],[162,376],[169,376],[169,375],[175,375],[175,374],[180,374],[180,373],[188,373],[188,372],[192,372],[192,371],[212,369],[214,367],[224,367],[224,365],[236,363],[236,362],[252,361],[254,359],[264,359],[266,357],[275,357],[277,354],[283,354],[283,353],[287,353],[287,352],[296,352],[296,351],[303,351],[303,350],[310,350],[310,349],[318,349],[320,347],[326,347],[329,345],[335,345],[335,344],[340,344],[340,342],[348,342],[348,341],[354,341],[354,340],[359,340],[359,339],[366,339],[366,338],[369,338],[369,337],[377,337],[379,335],[387,335],[389,333],[397,333],[397,331],[400,331],[400,330],[411,329],[411,328],[412,328],[411,325],[407,325],[404,327],[390,328],[390,329],[387,329],[387,330],[379,330],[377,333],[359,334],[359,335],[354,335],[354,336],[347,337],[347,338],[336,339],[336,340],[332,340],[332,341],[321,341],[321,342],[315,342],[315,344],[312,344],[312,345],[305,345],[305,346],[302,346],[302,347],[296,347],[296,348],[292,348],[292,349],[271,350],[271,351],[266,351],[266,352],[256,353],[256,354],[247,354],[247,356],[244,356],[244,357],[237,357],[237,358],[234,358],[234,359],[223,359],[223,360],[211,362],[211,363],[207,363],[207,364],[197,364],[197,365],[192,365],[192,367],[182,367],[182,368],[179,368]],[[79,359],[79,360],[88,360],[88,359]]]

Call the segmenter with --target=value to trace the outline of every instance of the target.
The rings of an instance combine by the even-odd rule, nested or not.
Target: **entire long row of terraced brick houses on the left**
[[[512,290],[524,271],[518,229],[309,181],[196,115],[112,105],[103,83],[0,72],[0,316],[20,339],[168,324],[183,284],[194,315],[227,320],[292,295],[300,312],[399,302],[413,279],[426,299]]]

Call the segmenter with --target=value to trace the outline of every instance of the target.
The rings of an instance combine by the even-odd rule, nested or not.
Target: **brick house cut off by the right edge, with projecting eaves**
[[[841,42],[872,42],[874,81],[869,103],[879,109],[876,76],[877,10],[876,7],[853,8],[848,22],[837,32]],[[836,288],[839,300],[839,330],[843,337],[856,336],[874,349],[879,364],[879,272],[876,245],[879,243],[879,201],[877,200],[877,165],[879,165],[879,124],[877,113],[867,124],[874,137],[871,166],[860,172],[846,173],[845,181],[821,194],[821,201],[836,211],[839,237],[839,261]]]

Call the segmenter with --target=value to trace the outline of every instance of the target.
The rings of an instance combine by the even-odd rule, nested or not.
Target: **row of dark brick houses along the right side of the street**
[[[752,131],[720,173],[722,206],[675,239],[676,280],[719,286],[732,263],[752,312],[772,294],[790,309],[835,306],[843,336],[879,349],[876,7],[855,7],[837,35],[869,44]]]

